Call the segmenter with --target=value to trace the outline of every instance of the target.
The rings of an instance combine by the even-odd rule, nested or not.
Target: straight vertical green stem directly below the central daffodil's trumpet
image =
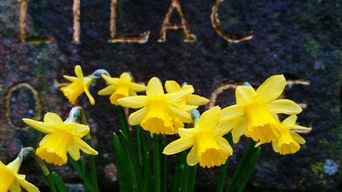
[[[155,177],[154,192],[160,192],[160,159],[159,159],[159,138],[153,135],[153,172]]]

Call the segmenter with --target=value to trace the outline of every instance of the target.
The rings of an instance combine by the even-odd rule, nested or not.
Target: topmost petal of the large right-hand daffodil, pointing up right
[[[282,94],[286,85],[284,75],[278,74],[266,79],[257,89],[257,94],[263,102],[275,100]]]

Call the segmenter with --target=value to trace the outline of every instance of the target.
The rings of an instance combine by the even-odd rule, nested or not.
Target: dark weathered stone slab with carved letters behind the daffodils
[[[23,2],[23,1],[21,1]],[[225,33],[253,38],[229,43],[211,26],[215,2],[181,0],[187,25],[196,36],[183,42],[183,30],[167,30],[157,42],[171,1],[116,2],[116,36],[138,36],[150,31],[144,44],[111,39],[111,2],[82,0],[79,44],[73,44],[73,1],[29,1],[27,42],[21,42],[19,3],[0,2],[0,160],[8,163],[23,146],[38,145],[42,135],[21,123],[41,119],[47,111],[66,118],[71,106],[59,90],[63,74],[73,75],[80,64],[85,74],[105,68],[112,76],[131,71],[136,81],[157,76],[194,85],[196,93],[212,98],[212,105],[235,103],[236,83],[260,85],[272,74],[285,74],[285,97],[306,107],[300,124],[312,126],[300,152],[280,156],[268,145],[248,184],[249,191],[341,191],[342,126],[342,3],[341,1],[223,1],[218,18]],[[181,23],[176,10],[171,23]],[[115,34],[115,33],[114,33]],[[42,40],[51,40],[41,42]],[[146,38],[146,36],[144,36]],[[233,85],[228,85],[233,84]],[[96,141],[101,188],[115,187],[114,150],[109,144],[117,131],[118,113],[109,98],[97,96],[105,87],[98,81],[80,104],[88,113]],[[213,94],[214,93],[214,94]],[[204,110],[205,107],[202,107]],[[231,169],[241,157],[246,139],[233,146]],[[64,180],[78,183],[70,167],[53,167]],[[34,162],[23,165],[31,182],[44,186]],[[213,191],[218,169],[199,169],[198,191]],[[230,174],[231,175],[231,174]],[[77,186],[77,185],[75,185]],[[44,188],[42,188],[44,189]]]

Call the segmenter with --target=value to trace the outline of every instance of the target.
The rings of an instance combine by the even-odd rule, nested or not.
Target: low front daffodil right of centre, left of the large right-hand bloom
[[[220,107],[213,107],[194,120],[194,128],[179,128],[181,139],[177,139],[164,148],[164,154],[176,154],[191,148],[187,154],[187,164],[201,167],[220,166],[226,163],[233,149],[223,138],[226,130],[218,126]]]

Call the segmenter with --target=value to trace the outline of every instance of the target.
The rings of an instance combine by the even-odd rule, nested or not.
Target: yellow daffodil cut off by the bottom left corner
[[[20,166],[20,158],[8,165],[0,161],[0,192],[21,192],[21,187],[27,192],[39,192],[36,186],[25,180],[25,175],[18,174]]]

